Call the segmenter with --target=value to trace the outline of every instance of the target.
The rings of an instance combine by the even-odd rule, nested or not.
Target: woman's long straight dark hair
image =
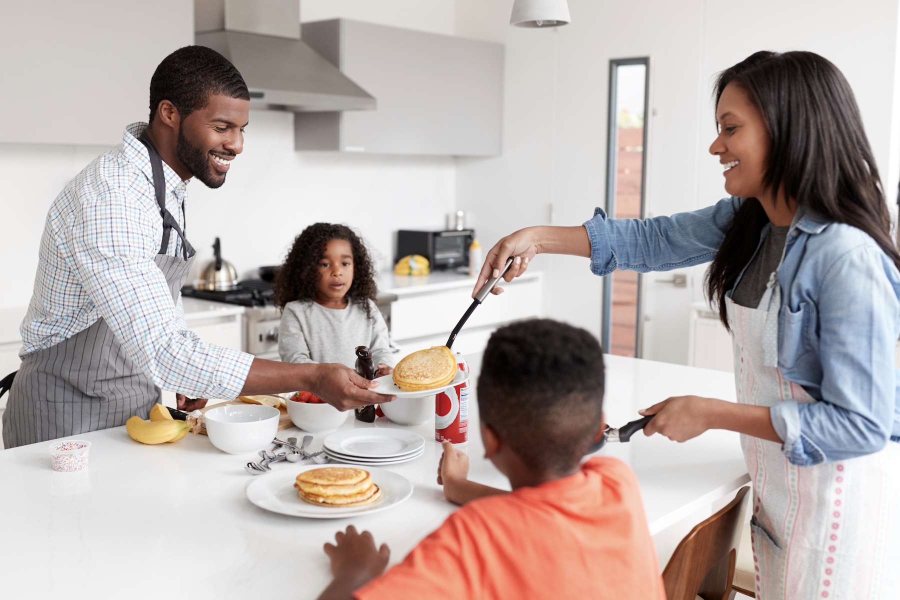
[[[841,71],[813,52],[763,51],[719,74],[716,107],[731,83],[746,90],[769,129],[766,189],[783,185],[784,198],[865,231],[900,268],[878,167]],[[709,266],[707,297],[717,301],[725,327],[725,292],[752,259],[768,222],[759,201],[743,201]]]

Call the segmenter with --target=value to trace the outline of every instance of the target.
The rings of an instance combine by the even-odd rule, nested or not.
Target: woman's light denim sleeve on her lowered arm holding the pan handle
[[[819,292],[822,399],[770,408],[793,464],[878,452],[894,427],[900,302],[877,247],[852,249],[830,266]],[[782,309],[784,310],[784,308]]]

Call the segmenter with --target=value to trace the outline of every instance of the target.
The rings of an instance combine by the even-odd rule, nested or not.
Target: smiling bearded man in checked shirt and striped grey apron
[[[3,417],[7,448],[146,418],[160,388],[185,410],[292,390],[342,410],[393,399],[343,365],[257,359],[204,344],[184,325],[180,289],[194,256],[187,183],[225,183],[249,99],[218,52],[175,50],[150,80],[149,124],[129,125],[50,206]]]

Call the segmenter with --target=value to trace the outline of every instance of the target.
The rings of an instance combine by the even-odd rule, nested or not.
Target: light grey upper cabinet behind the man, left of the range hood
[[[150,77],[193,44],[193,0],[0,3],[0,142],[121,142],[147,121]]]

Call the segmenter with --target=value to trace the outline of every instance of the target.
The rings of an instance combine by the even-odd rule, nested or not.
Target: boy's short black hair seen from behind
[[[482,423],[531,469],[571,470],[602,420],[603,350],[590,333],[548,318],[500,327],[478,379]]]

